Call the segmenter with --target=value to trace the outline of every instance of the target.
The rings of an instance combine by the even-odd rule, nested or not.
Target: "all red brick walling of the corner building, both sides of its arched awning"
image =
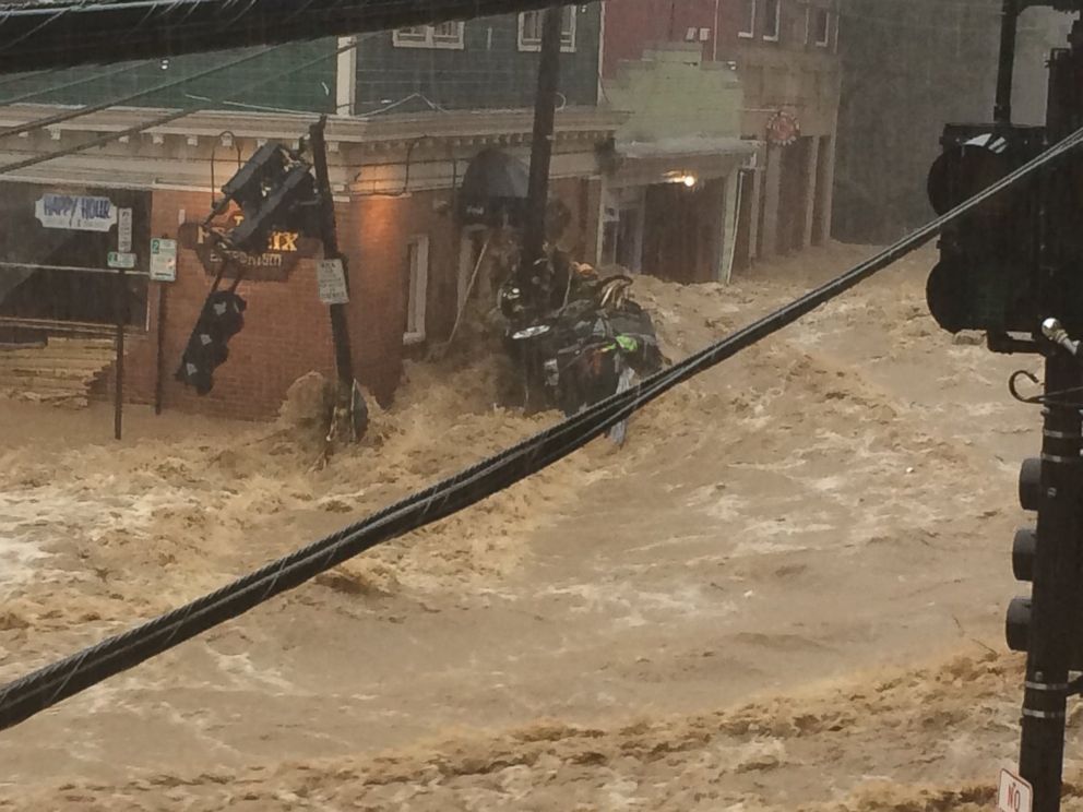
[[[562,247],[575,259],[592,260],[600,184],[561,179],[552,183],[552,194],[572,212]],[[402,377],[407,243],[412,237],[429,238],[429,341],[444,341],[455,320],[460,231],[447,206],[440,205],[450,203],[451,192],[439,191],[355,198],[337,206],[338,240],[350,274],[347,315],[355,373],[383,405],[392,401]],[[155,192],[152,235],[176,238],[181,208],[189,219],[198,219],[207,208],[207,198],[204,193]],[[210,394],[200,397],[174,380],[212,284],[195,252],[185,248],[179,250],[177,280],[150,284],[147,330],[128,339],[128,401],[154,402],[163,295],[160,374],[166,409],[265,419],[277,413],[289,385],[301,375],[312,370],[334,375],[330,317],[317,296],[316,260],[300,260],[285,282],[241,282],[238,292],[248,302],[245,329],[229,342],[229,358],[215,370]],[[95,393],[109,396],[114,380],[110,368],[98,380]]]

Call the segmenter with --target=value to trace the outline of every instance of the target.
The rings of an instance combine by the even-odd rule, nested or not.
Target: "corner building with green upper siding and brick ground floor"
[[[599,242],[604,154],[623,117],[596,106],[600,8],[569,7],[564,14],[551,194],[568,215],[562,247],[591,258]],[[340,242],[350,268],[353,355],[358,379],[386,403],[403,358],[449,335],[481,261],[486,228],[462,222],[455,205],[471,162],[493,150],[521,164],[527,160],[539,19],[527,12],[366,35],[355,51],[337,58],[341,40],[283,46],[224,74],[185,82],[209,63],[246,55],[162,60],[126,72],[103,69],[85,83],[85,72],[27,75],[10,86],[9,99],[59,87],[44,100],[85,104],[170,84],[176,86],[143,96],[139,104],[181,106],[210,98],[218,99],[212,106],[219,109],[8,176],[9,188],[21,187],[21,193],[4,195],[0,189],[0,198],[20,217],[0,223],[0,252],[27,234],[49,231],[32,216],[36,201],[46,195],[82,195],[131,207],[138,264],[127,272],[133,306],[126,396],[148,403],[160,392],[165,408],[270,416],[294,380],[313,369],[333,370],[328,309],[317,297],[319,250],[290,237],[284,240],[289,250],[269,251],[248,270],[238,289],[248,301],[246,326],[230,341],[229,360],[216,370],[214,390],[198,397],[172,377],[213,282],[195,224],[209,213],[213,189],[259,144],[295,143],[314,120],[312,114],[337,111],[328,139]],[[272,81],[283,73],[286,79]],[[260,75],[269,80],[265,91],[228,96],[234,83]],[[9,105],[0,111],[0,127],[50,111]],[[0,144],[0,163],[122,130],[157,112],[114,108],[9,138]],[[132,194],[139,205],[128,202]],[[0,263],[0,334],[98,336],[114,330],[118,277],[107,266],[106,249],[116,250],[117,227],[47,236],[57,234],[79,263],[60,262],[67,254],[52,251],[48,239],[40,251],[26,246]],[[147,235],[179,238],[176,282],[147,280]],[[99,393],[110,391],[110,369],[98,375]]]

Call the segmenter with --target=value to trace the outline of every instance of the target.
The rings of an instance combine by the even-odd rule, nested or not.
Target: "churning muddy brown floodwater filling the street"
[[[677,358],[867,253],[634,294]],[[1005,381],[1038,366],[939,331],[931,262],[659,399],[622,450],[598,441],[0,733],[0,809],[988,809],[1017,748],[1002,619],[1039,426]],[[287,423],[132,409],[115,444],[104,405],[0,401],[0,677],[554,419],[493,390],[454,353],[416,365],[321,470]]]

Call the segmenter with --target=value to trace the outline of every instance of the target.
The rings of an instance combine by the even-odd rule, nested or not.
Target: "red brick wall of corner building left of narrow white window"
[[[178,210],[190,218],[206,210],[204,194],[155,192],[152,232],[176,237]],[[348,308],[355,371],[362,385],[382,402],[393,395],[401,365],[401,296],[395,288],[398,234],[388,218],[371,213],[366,237],[369,248],[358,254],[353,226],[365,205],[341,204],[341,242],[349,255],[352,302]],[[129,339],[126,396],[136,403],[154,401],[157,368],[159,308],[163,294],[165,322],[162,335],[163,405],[186,411],[224,417],[263,419],[274,416],[289,385],[309,371],[334,374],[334,349],[328,308],[317,295],[316,261],[301,260],[285,282],[241,282],[238,292],[248,302],[245,329],[229,343],[228,360],[214,373],[214,390],[200,397],[174,380],[174,372],[213,284],[195,256],[181,248],[177,282],[150,285],[148,329]],[[224,283],[228,284],[228,283]],[[391,339],[397,335],[398,344]],[[97,392],[112,391],[114,371],[99,381]]]

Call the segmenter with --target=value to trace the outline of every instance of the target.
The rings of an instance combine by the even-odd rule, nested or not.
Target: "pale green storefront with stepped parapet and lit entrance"
[[[725,282],[737,241],[741,83],[702,45],[657,45],[621,61],[606,86],[628,112],[603,177],[599,263],[681,283]]]

